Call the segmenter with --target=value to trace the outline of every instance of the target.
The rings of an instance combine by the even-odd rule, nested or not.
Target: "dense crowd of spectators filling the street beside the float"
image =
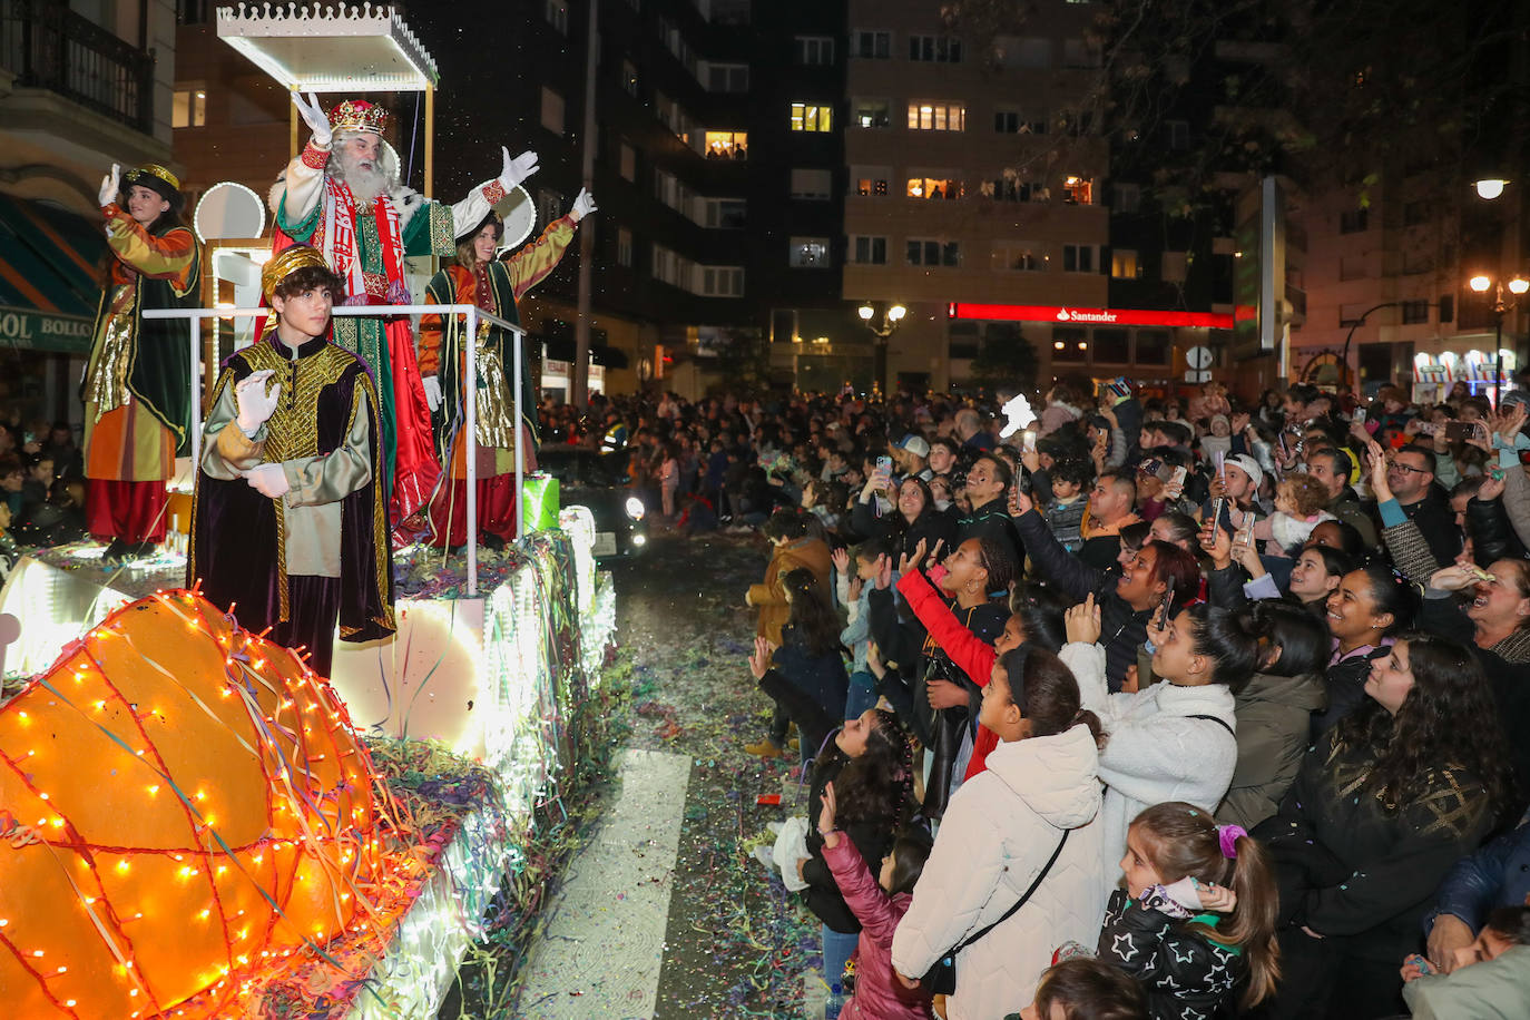
[[[542,408],[770,543],[840,1015],[1530,1015],[1525,395],[1001,401]]]

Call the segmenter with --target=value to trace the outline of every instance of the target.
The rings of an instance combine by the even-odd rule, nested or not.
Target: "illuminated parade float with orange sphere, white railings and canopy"
[[[428,118],[435,66],[390,8],[240,5],[219,34],[285,87],[419,89]],[[205,326],[266,315],[207,304],[167,312],[193,323],[197,361]],[[202,373],[191,385],[199,434]],[[21,621],[0,699],[8,1011],[435,1015],[588,752],[577,720],[615,630],[589,512],[519,457],[516,483],[519,541],[480,555],[470,495],[465,555],[398,551],[396,633],[337,644],[329,677],[184,589],[184,502],[158,555],[78,543],[17,564],[0,592],[0,619]]]

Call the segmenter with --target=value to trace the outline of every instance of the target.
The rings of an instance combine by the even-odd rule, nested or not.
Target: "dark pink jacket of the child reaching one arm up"
[[[840,1020],[929,1020],[930,997],[904,988],[892,973],[892,933],[913,896],[889,896],[843,832],[835,846],[823,844],[823,859],[861,922],[855,944],[855,994],[845,1003]]]

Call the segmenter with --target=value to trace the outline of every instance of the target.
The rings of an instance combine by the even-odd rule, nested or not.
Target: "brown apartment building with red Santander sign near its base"
[[[874,326],[907,309],[881,385],[964,384],[1017,338],[1040,379],[1056,344],[1088,353],[1109,278],[1091,17],[1053,0],[1024,35],[973,38],[938,5],[851,0],[843,294]]]

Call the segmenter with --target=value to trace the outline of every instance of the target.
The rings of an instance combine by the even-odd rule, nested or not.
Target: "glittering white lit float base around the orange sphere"
[[[375,757],[389,746],[447,748],[482,763],[491,780],[419,853],[416,872],[398,879],[395,902],[405,908],[389,918],[384,939],[347,933],[324,947],[327,962],[312,953],[285,959],[249,980],[237,1009],[225,1002],[216,1015],[262,1015],[263,996],[292,988],[321,988],[327,1003],[315,1012],[309,1000],[294,1015],[435,1015],[467,947],[483,934],[490,899],[528,846],[536,806],[572,765],[569,711],[597,688],[615,630],[610,577],[595,570],[594,538],[589,512],[565,509],[560,531],[485,554],[477,598],[465,598],[453,573],[461,558],[442,569],[439,551],[418,549],[409,554],[418,560],[396,564],[405,592],[398,635],[337,641],[334,688]],[[83,544],[21,560],[0,590],[0,612],[23,621],[6,671],[47,670],[60,648],[112,612],[182,578],[184,561],[170,554],[121,570],[104,569],[99,547]],[[196,1000],[182,1006],[182,1015],[207,1015]]]

